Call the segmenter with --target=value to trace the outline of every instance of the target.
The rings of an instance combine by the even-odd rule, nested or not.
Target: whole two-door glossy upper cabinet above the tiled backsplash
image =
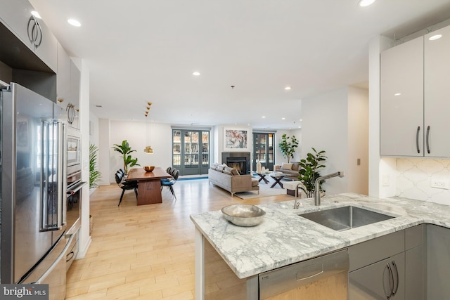
[[[383,51],[380,75],[380,155],[450,157],[450,26]]]

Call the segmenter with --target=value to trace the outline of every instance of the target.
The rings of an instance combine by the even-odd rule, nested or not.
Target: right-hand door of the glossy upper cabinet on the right
[[[425,35],[424,42],[425,156],[450,157],[450,27]]]

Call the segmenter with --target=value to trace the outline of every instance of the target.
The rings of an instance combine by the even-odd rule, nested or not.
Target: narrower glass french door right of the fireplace
[[[261,167],[274,169],[275,133],[253,133],[253,170],[256,170],[257,162]]]

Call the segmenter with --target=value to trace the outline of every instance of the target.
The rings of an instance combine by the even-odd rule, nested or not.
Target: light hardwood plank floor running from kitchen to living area
[[[162,190],[162,204],[136,205],[133,191],[101,186],[91,195],[94,228],[84,259],[68,271],[68,300],[194,299],[194,226],[190,214],[229,204],[293,200],[281,195],[241,200],[207,179],[177,181],[178,200]]]

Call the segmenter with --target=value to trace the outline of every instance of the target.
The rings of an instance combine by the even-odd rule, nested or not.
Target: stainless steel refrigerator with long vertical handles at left
[[[0,282],[49,284],[50,299],[64,299],[65,122],[19,84],[4,85],[0,101]]]

